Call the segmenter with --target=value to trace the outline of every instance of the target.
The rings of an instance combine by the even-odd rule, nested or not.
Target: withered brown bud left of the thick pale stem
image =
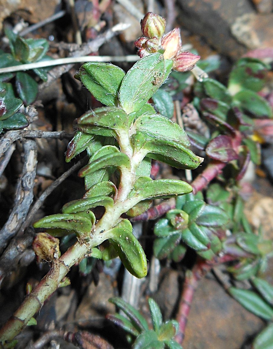
[[[32,247],[37,256],[37,262],[45,260],[52,262],[60,255],[59,239],[47,233],[38,233],[32,243]]]

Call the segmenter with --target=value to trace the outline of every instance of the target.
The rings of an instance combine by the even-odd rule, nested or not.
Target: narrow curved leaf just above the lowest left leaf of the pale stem
[[[62,206],[62,213],[76,213],[80,211],[89,210],[97,206],[113,206],[114,200],[109,196],[94,196],[92,198],[84,198],[79,200],[73,200]]]

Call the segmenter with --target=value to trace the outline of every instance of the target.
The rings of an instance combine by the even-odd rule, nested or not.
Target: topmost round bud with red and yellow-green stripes
[[[141,30],[144,36],[148,38],[157,37],[161,38],[165,31],[166,21],[163,17],[148,12],[140,21]]]

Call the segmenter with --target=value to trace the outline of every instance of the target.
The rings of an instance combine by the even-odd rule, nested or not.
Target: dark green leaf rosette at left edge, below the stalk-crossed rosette
[[[11,84],[0,82],[0,133],[3,129],[20,129],[29,125],[19,109],[23,102],[15,98]]]

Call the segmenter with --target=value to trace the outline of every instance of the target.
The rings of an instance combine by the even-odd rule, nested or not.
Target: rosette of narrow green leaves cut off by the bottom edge
[[[109,302],[122,310],[126,317],[116,313],[115,315],[109,314],[106,318],[123,328],[130,336],[137,337],[132,349],[182,349],[174,340],[179,328],[178,322],[175,320],[163,322],[161,311],[152,298],[148,299],[148,303],[153,329],[149,329],[147,321],[140,312],[123,299],[110,298]]]

